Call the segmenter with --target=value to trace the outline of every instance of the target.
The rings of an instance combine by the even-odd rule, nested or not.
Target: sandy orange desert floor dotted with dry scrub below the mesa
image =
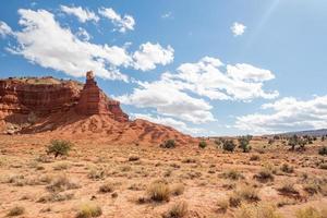
[[[164,149],[75,138],[69,156],[57,159],[46,154],[50,140],[0,136],[0,217],[14,207],[23,208],[20,217],[76,217],[86,205],[99,206],[100,217],[117,218],[173,217],[169,210],[177,205],[184,206],[184,217],[206,218],[234,217],[240,205],[276,206],[287,218],[308,206],[326,211],[320,140],[302,153],[253,140],[250,153],[230,154],[214,143]],[[164,192],[169,187],[161,202],[149,196],[154,182]]]

